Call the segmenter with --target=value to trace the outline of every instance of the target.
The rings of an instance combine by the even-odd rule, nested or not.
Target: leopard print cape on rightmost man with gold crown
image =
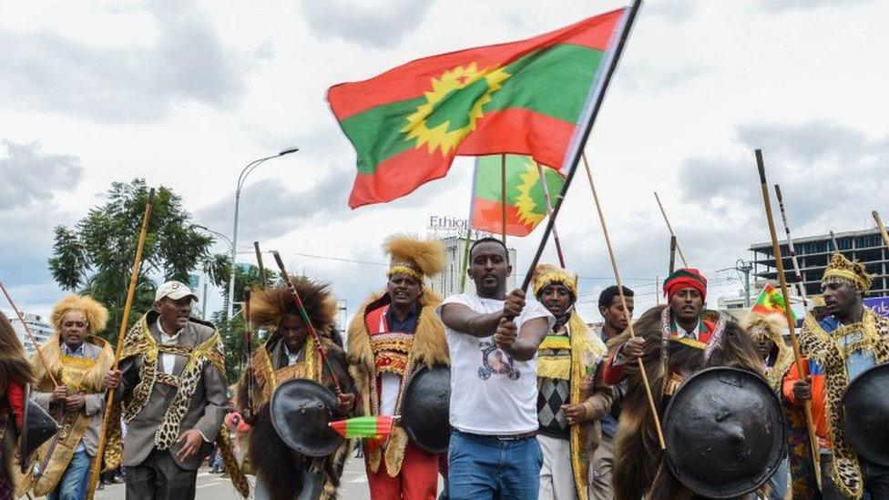
[[[862,332],[862,338],[842,347],[838,340],[853,332]],[[850,382],[846,358],[853,352],[873,352],[877,363],[889,361],[889,319],[865,307],[861,322],[825,332],[809,313],[800,332],[800,349],[803,356],[821,364],[825,373],[824,406],[833,448],[833,482],[843,495],[861,498],[864,481],[858,454],[843,434],[842,400]]]

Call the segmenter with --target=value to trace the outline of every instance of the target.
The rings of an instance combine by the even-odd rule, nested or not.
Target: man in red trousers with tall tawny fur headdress
[[[435,314],[442,298],[425,283],[445,269],[444,246],[396,235],[383,248],[390,255],[386,290],[363,304],[348,336],[361,413],[373,416],[401,414],[413,375],[448,365],[445,329]],[[384,444],[365,441],[371,498],[434,500],[439,457],[412,443],[398,423]]]

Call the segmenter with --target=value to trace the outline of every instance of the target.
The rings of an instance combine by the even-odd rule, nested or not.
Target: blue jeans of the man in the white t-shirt
[[[447,485],[451,500],[536,500],[543,454],[536,437],[501,441],[451,432]]]

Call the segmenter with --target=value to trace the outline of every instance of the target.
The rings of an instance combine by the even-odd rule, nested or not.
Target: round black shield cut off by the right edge
[[[855,377],[843,394],[843,433],[855,451],[889,465],[889,363]]]

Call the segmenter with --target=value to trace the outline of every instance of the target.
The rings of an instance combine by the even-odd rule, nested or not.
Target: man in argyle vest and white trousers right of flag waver
[[[549,264],[534,271],[536,299],[555,318],[537,349],[537,441],[543,451],[541,499],[587,500],[589,465],[611,388],[597,371],[608,352],[575,309],[577,275]]]

